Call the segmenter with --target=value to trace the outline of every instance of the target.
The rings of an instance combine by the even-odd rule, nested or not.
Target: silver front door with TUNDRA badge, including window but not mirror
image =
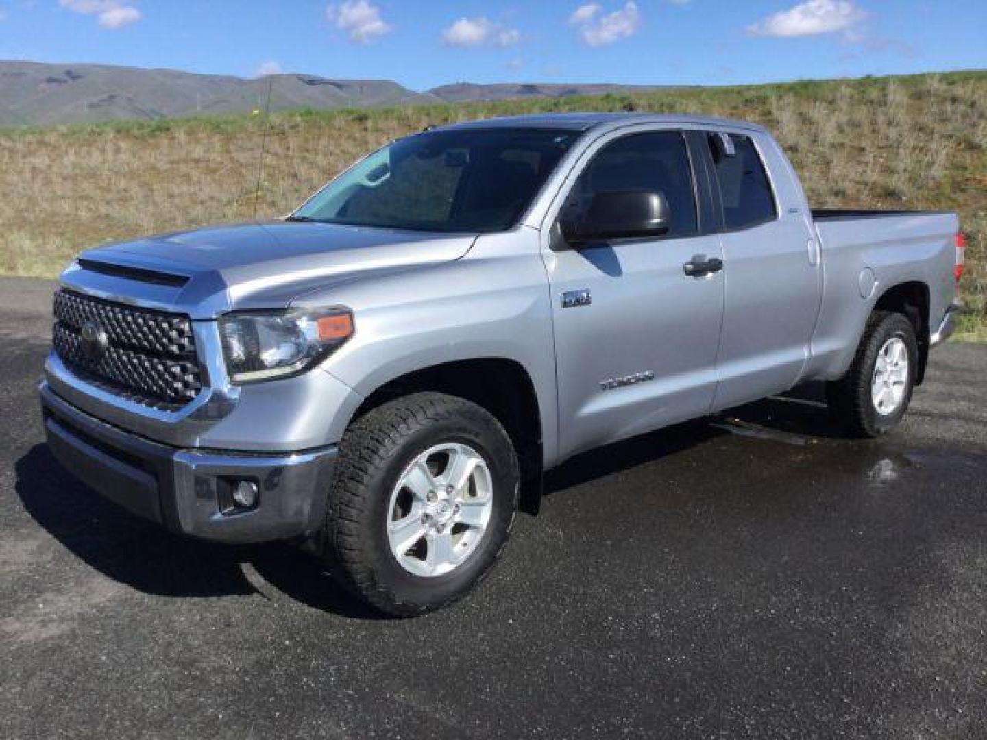
[[[577,166],[554,217],[545,261],[562,457],[702,415],[713,402],[721,271],[689,276],[683,265],[722,255],[712,212],[697,206],[710,203],[705,163],[686,142],[677,130],[600,142]],[[621,189],[663,192],[668,234],[570,249],[558,219],[578,213],[596,192]]]

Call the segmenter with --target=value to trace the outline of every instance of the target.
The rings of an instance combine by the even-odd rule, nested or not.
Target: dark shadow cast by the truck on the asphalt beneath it
[[[784,434],[831,432],[824,410],[813,411],[802,404],[767,400],[732,411],[729,423],[742,419],[751,427]],[[717,420],[693,421],[584,453],[549,474],[546,492],[554,494],[645,463],[674,458],[729,431]],[[284,544],[231,546],[173,535],[76,481],[44,444],[21,457],[15,473],[18,496],[45,531],[104,575],[143,593],[171,597],[261,593],[272,598],[269,585],[315,609],[355,619],[382,618],[350,597],[315,557]],[[259,587],[245,572],[245,564],[252,566],[266,584]]]

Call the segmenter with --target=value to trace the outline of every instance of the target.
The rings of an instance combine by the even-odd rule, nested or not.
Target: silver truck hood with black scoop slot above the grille
[[[61,279],[205,319],[280,308],[345,280],[459,259],[476,237],[289,221],[220,226],[89,250]]]

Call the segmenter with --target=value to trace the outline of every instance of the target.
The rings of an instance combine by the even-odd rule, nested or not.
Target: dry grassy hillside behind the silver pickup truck
[[[277,113],[266,136],[249,116],[0,131],[0,272],[51,276],[105,241],[284,214],[426,124],[586,110],[754,120],[785,145],[813,205],[958,210],[970,235],[965,335],[987,338],[987,72]]]

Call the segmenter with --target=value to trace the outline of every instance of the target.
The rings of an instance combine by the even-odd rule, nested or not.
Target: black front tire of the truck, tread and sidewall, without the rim
[[[493,511],[481,542],[451,572],[419,576],[403,567],[387,537],[391,493],[425,450],[446,441],[483,456],[493,480]],[[518,466],[510,438],[486,409],[438,393],[374,408],[345,431],[329,493],[324,551],[342,585],[376,609],[410,617],[466,595],[503,551],[517,510]]]

